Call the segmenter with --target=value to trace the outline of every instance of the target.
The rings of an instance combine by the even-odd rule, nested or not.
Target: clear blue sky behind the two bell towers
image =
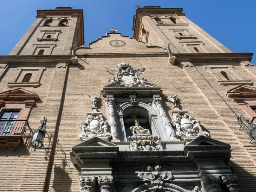
[[[85,46],[107,27],[133,36],[137,0],[0,0],[0,55],[7,55],[36,19],[37,9],[84,10]],[[233,52],[256,52],[256,0],[139,0],[143,6],[181,7],[190,20]],[[256,56],[255,56],[256,57]],[[256,64],[256,58],[252,60]]]

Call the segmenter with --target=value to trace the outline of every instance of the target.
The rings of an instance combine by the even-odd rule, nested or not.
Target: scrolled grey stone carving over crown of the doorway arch
[[[173,166],[167,167],[159,164],[155,166],[142,165],[138,167],[133,166],[133,169],[138,173],[140,179],[143,181],[150,181],[155,190],[162,189],[163,181],[174,179],[171,173],[171,171],[173,171]]]

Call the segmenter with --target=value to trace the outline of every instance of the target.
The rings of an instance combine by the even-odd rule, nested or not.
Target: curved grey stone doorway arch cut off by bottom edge
[[[180,186],[171,184],[171,183],[163,183],[162,189],[155,189],[151,183],[144,183],[140,186],[137,186],[131,192],[154,192],[154,191],[162,191],[162,192],[188,192],[186,189],[183,189]]]

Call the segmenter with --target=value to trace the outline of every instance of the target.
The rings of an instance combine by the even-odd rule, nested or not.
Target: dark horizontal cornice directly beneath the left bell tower
[[[71,63],[73,55],[0,55],[0,63]]]

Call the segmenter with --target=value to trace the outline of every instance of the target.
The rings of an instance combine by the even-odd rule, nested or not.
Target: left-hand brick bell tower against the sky
[[[70,55],[84,44],[83,10],[37,10],[37,19],[9,55]]]

